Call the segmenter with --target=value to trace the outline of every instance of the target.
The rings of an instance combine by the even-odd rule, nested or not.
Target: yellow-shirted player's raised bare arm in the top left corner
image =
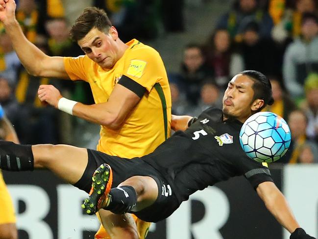
[[[14,0],[0,0],[0,21],[28,73],[34,76],[69,79],[64,68],[63,57],[48,56],[26,39],[15,17],[15,10]]]

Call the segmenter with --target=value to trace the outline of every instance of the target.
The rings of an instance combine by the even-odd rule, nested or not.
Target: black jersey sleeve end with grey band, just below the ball
[[[273,182],[267,163],[257,162],[246,156],[241,160],[239,168],[254,189],[261,183]]]

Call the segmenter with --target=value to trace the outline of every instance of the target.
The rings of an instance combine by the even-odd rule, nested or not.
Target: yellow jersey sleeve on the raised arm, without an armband
[[[87,56],[64,57],[64,67],[71,80],[86,80]]]

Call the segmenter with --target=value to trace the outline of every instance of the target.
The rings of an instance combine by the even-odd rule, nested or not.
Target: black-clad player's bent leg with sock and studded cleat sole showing
[[[100,209],[115,214],[138,212],[152,205],[158,196],[157,183],[148,176],[133,176],[114,188],[111,185],[111,167],[101,164],[93,176],[90,196],[82,205],[87,214]]]

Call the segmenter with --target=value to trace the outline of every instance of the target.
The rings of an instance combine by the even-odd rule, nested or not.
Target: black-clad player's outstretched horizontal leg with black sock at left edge
[[[0,141],[0,168],[7,171],[32,171],[47,168],[74,185],[88,163],[87,149],[70,145],[19,145]]]

